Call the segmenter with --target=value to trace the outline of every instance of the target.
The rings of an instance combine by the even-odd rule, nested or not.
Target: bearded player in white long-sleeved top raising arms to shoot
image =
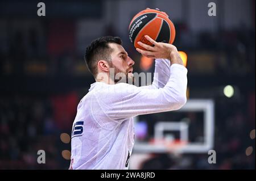
[[[85,61],[96,82],[81,99],[73,123],[69,169],[128,169],[134,145],[133,117],[180,109],[187,101],[187,69],[174,45],[139,42],[137,51],[155,58],[152,85],[137,87],[111,76],[133,79],[134,61],[119,37],[100,37],[86,49]],[[158,73],[158,77],[155,76]]]

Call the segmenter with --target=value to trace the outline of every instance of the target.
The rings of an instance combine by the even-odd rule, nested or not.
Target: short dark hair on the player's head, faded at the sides
[[[122,40],[119,37],[103,36],[92,41],[86,48],[84,60],[94,77],[97,75],[97,62],[99,60],[111,61],[112,48],[109,47],[109,43],[122,45]]]

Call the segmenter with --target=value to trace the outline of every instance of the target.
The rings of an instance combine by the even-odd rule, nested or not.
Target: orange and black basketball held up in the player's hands
[[[129,25],[129,38],[135,48],[144,49],[138,41],[152,45],[145,35],[157,42],[174,43],[175,27],[166,12],[147,9],[134,16]]]

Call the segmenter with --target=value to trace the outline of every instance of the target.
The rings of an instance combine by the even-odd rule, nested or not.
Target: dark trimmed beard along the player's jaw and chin
[[[130,83],[134,85],[135,79],[134,76],[129,76],[128,70],[121,71],[120,69],[116,68],[112,63],[110,63],[110,68],[114,69],[114,77],[110,76],[115,83]],[[118,74],[118,75],[117,75]]]

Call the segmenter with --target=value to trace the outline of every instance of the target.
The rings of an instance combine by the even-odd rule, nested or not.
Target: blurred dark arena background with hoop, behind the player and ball
[[[136,117],[130,169],[255,169],[254,0],[42,2],[40,17],[37,1],[0,2],[0,169],[68,169],[67,134],[94,82],[85,47],[99,36],[120,36],[135,71],[154,72],[127,31],[146,7],[167,12],[175,24],[174,45],[188,57],[188,103]],[[208,16],[210,2],[216,16]],[[158,138],[167,144],[156,146]],[[183,150],[168,150],[182,139]],[[46,151],[46,163],[37,162],[38,150]],[[216,151],[216,163],[208,163],[208,150]]]

